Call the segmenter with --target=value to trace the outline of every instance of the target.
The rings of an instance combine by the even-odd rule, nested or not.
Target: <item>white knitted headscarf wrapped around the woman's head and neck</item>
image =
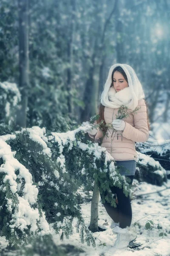
[[[122,67],[125,71],[129,85],[118,92],[116,92],[114,86],[111,87],[111,75],[113,69],[117,66]],[[111,66],[108,73],[108,79],[105,82],[104,90],[101,95],[101,103],[103,106],[119,108],[121,105],[125,105],[127,108],[134,110],[138,105],[138,101],[144,99],[144,97],[145,95],[142,85],[132,67],[127,64],[119,63]]]

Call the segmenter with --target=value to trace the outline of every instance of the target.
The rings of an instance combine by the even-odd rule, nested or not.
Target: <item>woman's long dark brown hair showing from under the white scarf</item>
[[[127,83],[128,83],[128,80],[127,80],[127,76],[126,76],[125,71],[122,69],[122,67],[117,66],[117,67],[115,67],[115,68],[113,69],[113,72],[112,72],[112,75],[111,75],[111,86],[110,86],[110,87],[113,86],[113,74],[115,73],[115,71],[119,71],[119,72],[122,74],[122,76],[125,78],[125,80],[127,81]],[[147,108],[147,103],[146,103],[145,99],[144,99],[144,102],[145,102],[146,108]],[[104,109],[105,109],[105,106],[103,106],[102,103],[100,103],[99,108],[98,108],[99,119],[97,120],[97,123],[99,123],[99,122],[101,122],[101,121],[103,120],[103,123],[104,123],[104,125],[105,125],[106,122],[105,122],[105,119],[104,119]],[[148,125],[148,128],[149,128],[149,130],[150,130],[148,110],[147,110],[147,125]],[[106,132],[106,131],[107,131],[107,128],[103,128],[103,131]]]

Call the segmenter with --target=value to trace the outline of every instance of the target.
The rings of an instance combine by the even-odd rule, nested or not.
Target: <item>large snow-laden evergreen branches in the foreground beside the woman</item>
[[[82,218],[77,189],[84,186],[85,191],[91,190],[97,178],[101,190],[107,191],[102,200],[116,206],[110,185],[123,186],[127,196],[130,180],[119,174],[105,148],[87,143],[88,128],[57,133],[34,126],[4,134],[2,126],[0,227],[11,244],[26,244],[36,233],[49,233],[48,223],[68,239],[73,232],[72,221],[77,218],[81,242],[95,246]],[[34,213],[34,218],[26,212]]]

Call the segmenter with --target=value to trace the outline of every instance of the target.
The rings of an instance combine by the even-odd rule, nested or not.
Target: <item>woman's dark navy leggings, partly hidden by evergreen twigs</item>
[[[130,178],[131,182],[130,185],[132,185],[133,182],[133,177],[134,175],[128,175]],[[127,197],[123,193],[123,188],[119,189],[116,186],[110,187],[111,192],[114,194],[114,198],[118,199],[118,204],[117,207],[111,206],[107,201],[105,201],[104,207],[106,211],[108,212],[108,215],[113,219],[114,222],[119,222],[119,227],[125,228],[127,226],[130,227],[131,221],[132,221],[132,207],[130,203],[130,196],[128,195]],[[99,187],[100,190],[100,187]],[[106,193],[106,194],[105,194]],[[107,192],[104,192],[103,195],[107,195]],[[100,192],[100,196],[102,199],[102,195]]]

